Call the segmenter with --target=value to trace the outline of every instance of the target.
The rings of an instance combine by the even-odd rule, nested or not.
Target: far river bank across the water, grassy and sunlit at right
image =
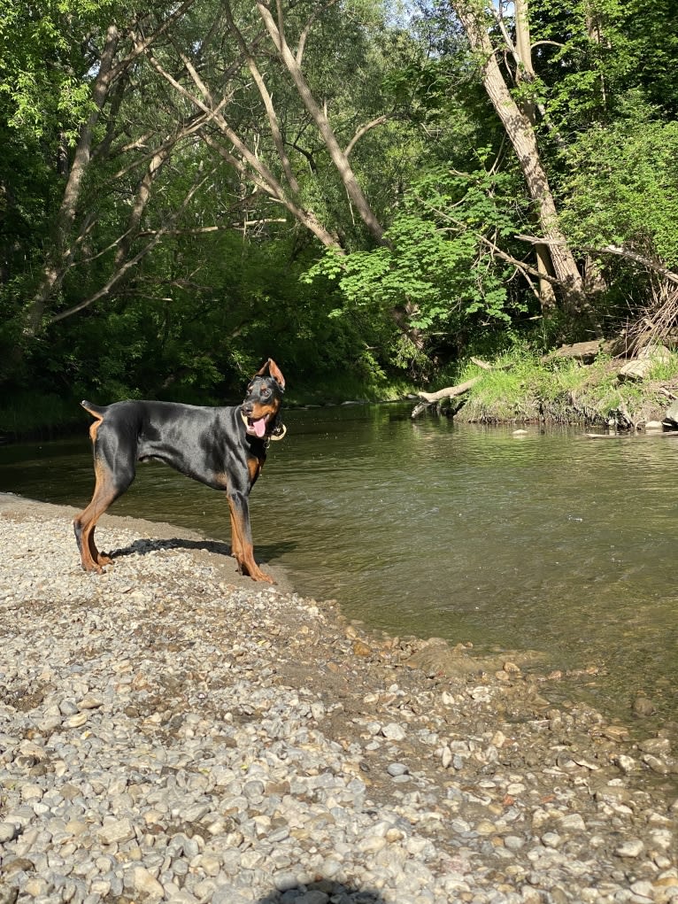
[[[589,363],[562,357],[513,350],[492,363],[471,359],[448,379],[438,373],[426,384],[384,378],[379,383],[333,385],[313,381],[287,393],[287,410],[334,407],[346,404],[387,404],[411,401],[418,391],[472,383],[468,391],[441,405],[458,421],[483,424],[545,424],[643,428],[661,422],[671,401],[678,398],[678,353],[664,354],[642,379],[620,376],[625,359],[600,354]],[[480,364],[483,366],[481,367]],[[353,394],[352,394],[353,391]],[[89,396],[91,397],[91,396]],[[155,398],[153,392],[150,395]],[[81,431],[83,419],[77,399],[28,393],[0,402],[0,444],[47,440]],[[111,399],[97,399],[105,404]],[[195,404],[232,404],[229,400],[199,397]],[[447,406],[447,408],[446,408]]]

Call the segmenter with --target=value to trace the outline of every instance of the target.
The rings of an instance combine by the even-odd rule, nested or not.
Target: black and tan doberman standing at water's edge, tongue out
[[[212,489],[225,491],[231,510],[231,552],[240,573],[273,579],[254,560],[248,497],[266,460],[270,439],[281,439],[285,378],[271,358],[252,377],[241,405],[203,408],[171,401],[118,401],[106,407],[82,401],[95,422],[89,428],[96,484],[91,502],[73,522],[82,568],[102,572],[110,557],[99,552],[94,529],[108,506],[134,480],[137,461],[157,458]]]

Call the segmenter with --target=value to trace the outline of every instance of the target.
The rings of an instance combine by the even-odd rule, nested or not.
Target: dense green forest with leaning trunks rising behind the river
[[[0,0],[0,412],[670,343],[670,0]]]

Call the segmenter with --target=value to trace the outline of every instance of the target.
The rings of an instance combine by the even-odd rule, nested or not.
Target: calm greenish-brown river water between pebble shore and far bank
[[[258,558],[367,626],[601,665],[575,692],[627,713],[642,690],[678,720],[678,438],[519,438],[410,408],[287,412],[251,496]],[[86,504],[83,434],[0,449],[0,490]],[[111,511],[229,537],[221,494],[161,465]]]

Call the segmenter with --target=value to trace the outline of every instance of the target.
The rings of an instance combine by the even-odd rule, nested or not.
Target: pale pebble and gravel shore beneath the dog
[[[674,726],[72,514],[0,496],[0,904],[678,904]]]

